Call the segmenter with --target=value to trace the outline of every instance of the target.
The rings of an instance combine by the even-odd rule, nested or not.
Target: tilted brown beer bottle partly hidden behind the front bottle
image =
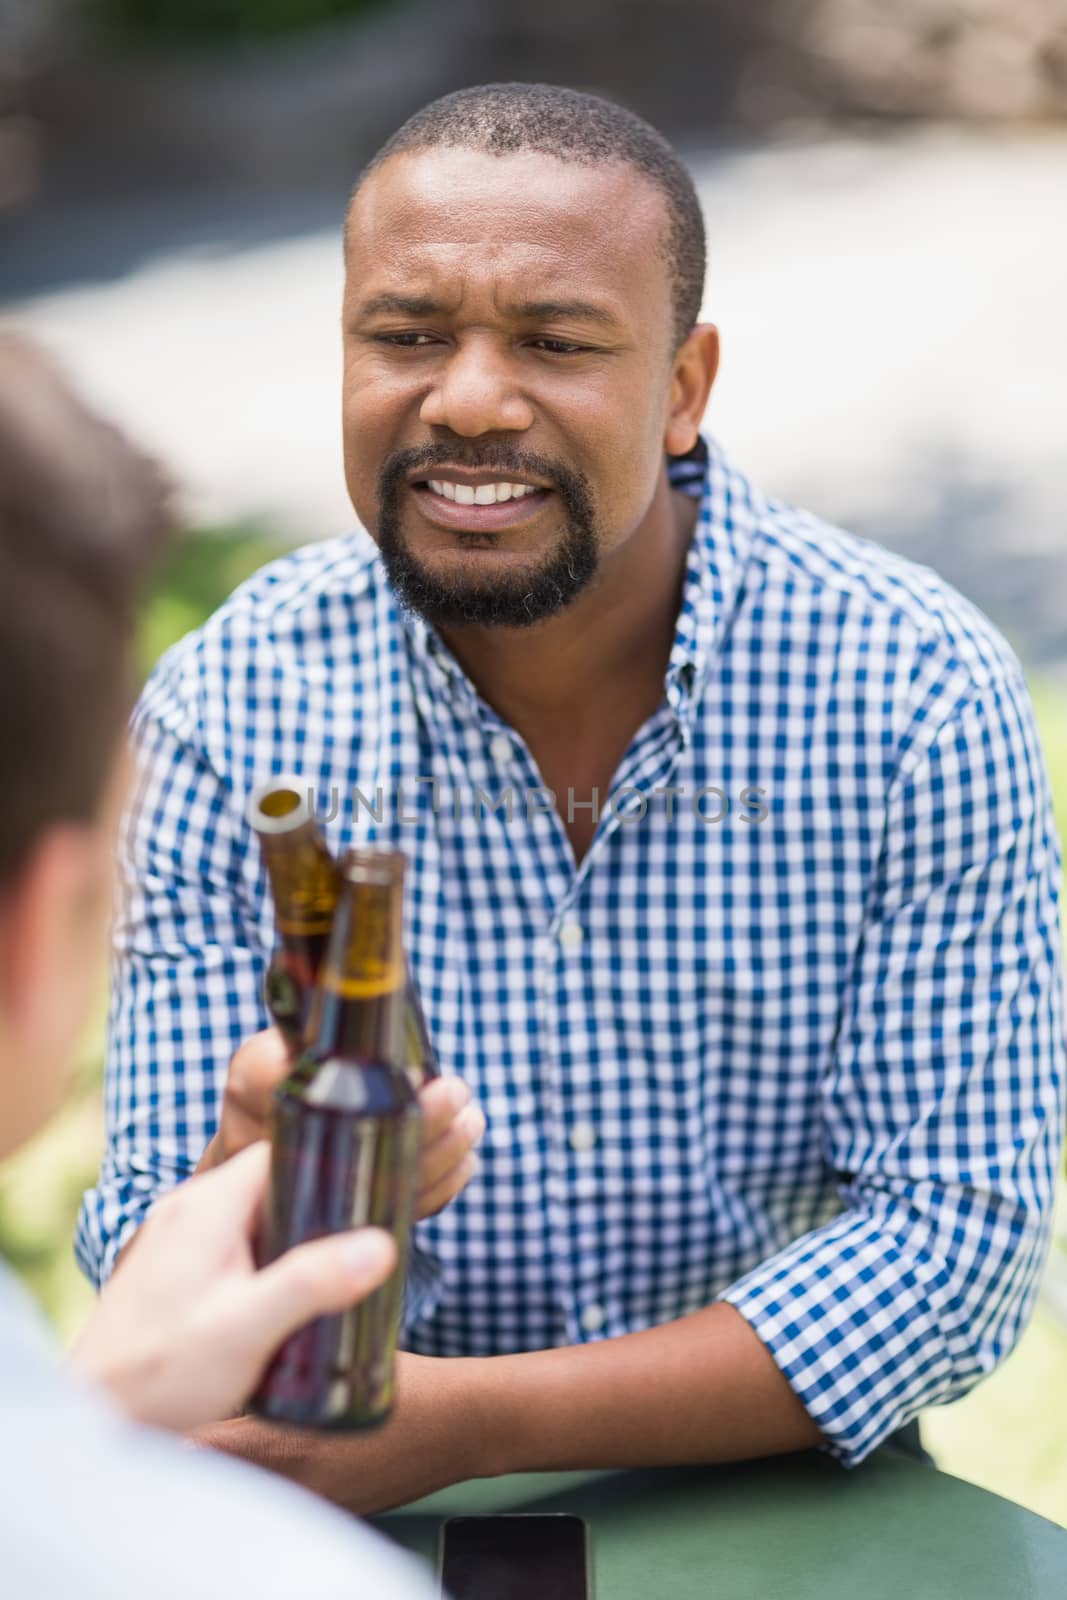
[[[278,930],[264,998],[290,1045],[299,1046],[341,896],[341,869],[299,779],[275,778],[261,784],[248,803],[248,822],[259,835]],[[406,1064],[411,1082],[421,1088],[427,1078],[438,1077],[440,1069],[410,968],[405,968],[405,986]]]

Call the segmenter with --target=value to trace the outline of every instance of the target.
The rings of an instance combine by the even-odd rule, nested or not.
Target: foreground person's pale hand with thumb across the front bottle
[[[259,1142],[166,1195],[104,1288],[72,1354],[130,1416],[189,1429],[232,1413],[267,1362],[314,1317],[346,1310],[397,1266],[381,1229],[317,1238],[256,1270],[267,1189]]]

